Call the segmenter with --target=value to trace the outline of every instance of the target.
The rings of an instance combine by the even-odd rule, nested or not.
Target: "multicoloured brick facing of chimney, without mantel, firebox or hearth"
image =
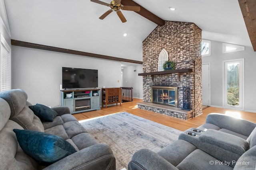
[[[202,30],[194,23],[166,21],[143,41],[143,72],[158,71],[162,49],[176,69],[192,68],[193,72],[143,76],[143,100],[151,102],[151,86],[177,86],[178,107],[183,107],[183,87],[190,87],[192,117],[202,114]]]

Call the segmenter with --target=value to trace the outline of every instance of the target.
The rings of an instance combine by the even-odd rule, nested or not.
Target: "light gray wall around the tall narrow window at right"
[[[202,63],[211,64],[210,106],[222,107],[222,61],[244,58],[244,109],[256,112],[256,52],[252,47],[245,47],[245,51],[222,53],[222,42],[218,41],[211,41],[211,47],[211,56],[202,57]]]

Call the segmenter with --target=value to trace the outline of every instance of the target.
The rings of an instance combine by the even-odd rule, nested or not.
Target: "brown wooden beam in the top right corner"
[[[256,51],[256,0],[238,0],[238,2],[252,47]]]

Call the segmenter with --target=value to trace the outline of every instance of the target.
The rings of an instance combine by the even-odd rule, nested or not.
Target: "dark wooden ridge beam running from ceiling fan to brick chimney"
[[[139,4],[137,4],[136,2],[134,2],[132,0],[122,0],[121,4],[124,6],[140,6]],[[162,26],[165,23],[164,20],[162,20],[155,14],[151,13],[150,11],[146,10],[142,6],[140,6],[140,12],[136,12],[136,13],[138,13],[141,16],[143,16],[144,18],[156,23],[159,26]]]

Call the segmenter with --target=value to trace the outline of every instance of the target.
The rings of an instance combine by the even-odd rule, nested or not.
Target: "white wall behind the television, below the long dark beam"
[[[23,89],[32,104],[59,106],[62,67],[98,70],[98,88],[121,86],[119,61],[12,46],[12,89]]]

